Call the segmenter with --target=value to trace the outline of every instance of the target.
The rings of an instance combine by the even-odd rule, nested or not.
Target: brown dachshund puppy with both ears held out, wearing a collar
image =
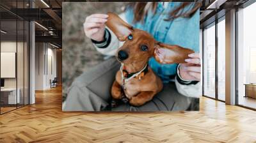
[[[116,53],[116,59],[122,66],[116,73],[111,94],[115,100],[129,101],[131,105],[141,106],[163,89],[161,79],[148,67],[150,57],[155,57],[159,63],[163,63],[163,59],[156,56],[157,49],[168,49],[169,54],[172,54],[164,60],[164,63],[168,64],[186,63],[184,60],[193,50],[159,43],[149,33],[133,28],[118,15],[110,12],[108,15],[106,26],[115,33],[118,40],[125,41]],[[113,102],[113,106],[115,104]]]

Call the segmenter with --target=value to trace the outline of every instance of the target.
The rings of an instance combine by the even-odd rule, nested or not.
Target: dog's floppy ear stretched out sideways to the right
[[[157,62],[162,64],[186,63],[185,59],[188,59],[188,55],[191,53],[194,51],[178,45],[156,43],[154,47],[154,57]]]

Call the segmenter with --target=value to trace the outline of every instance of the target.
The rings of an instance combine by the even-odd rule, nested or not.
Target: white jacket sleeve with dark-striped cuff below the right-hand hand
[[[201,82],[182,79],[179,74],[179,65],[175,77],[177,91],[184,96],[199,98],[202,95]]]

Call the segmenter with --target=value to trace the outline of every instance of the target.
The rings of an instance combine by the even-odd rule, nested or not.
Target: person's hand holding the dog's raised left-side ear
[[[106,14],[93,14],[86,17],[84,22],[84,33],[88,38],[95,41],[104,40],[105,23],[108,21]]]

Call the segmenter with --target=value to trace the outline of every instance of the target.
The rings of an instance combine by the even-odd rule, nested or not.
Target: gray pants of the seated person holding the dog
[[[198,110],[191,105],[198,105],[198,98],[189,98],[177,92],[174,82],[164,84],[163,91],[153,100],[141,107],[133,107],[128,103],[112,108],[111,86],[115,80],[120,64],[115,58],[91,68],[77,77],[68,89],[67,100],[63,104],[64,111],[170,111]]]

